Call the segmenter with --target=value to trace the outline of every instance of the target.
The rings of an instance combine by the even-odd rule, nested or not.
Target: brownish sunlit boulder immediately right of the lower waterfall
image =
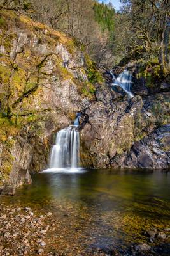
[[[129,102],[96,102],[87,110],[89,119],[81,130],[83,166],[108,168],[116,154],[131,149],[134,119],[142,106],[141,97],[137,96]]]

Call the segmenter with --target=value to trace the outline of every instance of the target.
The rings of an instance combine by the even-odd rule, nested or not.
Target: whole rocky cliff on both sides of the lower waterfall
[[[169,168],[168,90],[138,86],[128,100],[73,38],[10,11],[0,25],[0,190],[12,194],[46,168],[55,133],[78,111],[83,166]]]

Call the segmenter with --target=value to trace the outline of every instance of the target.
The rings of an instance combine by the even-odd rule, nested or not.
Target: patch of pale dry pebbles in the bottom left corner
[[[39,215],[30,207],[0,206],[0,255],[22,256],[44,253],[51,212]],[[48,255],[52,255],[48,253]]]

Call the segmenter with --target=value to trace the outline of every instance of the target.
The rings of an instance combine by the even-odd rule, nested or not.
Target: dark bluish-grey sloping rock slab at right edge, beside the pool
[[[169,145],[170,125],[163,125],[142,140],[135,142],[130,152],[113,159],[112,166],[118,168],[169,168]]]

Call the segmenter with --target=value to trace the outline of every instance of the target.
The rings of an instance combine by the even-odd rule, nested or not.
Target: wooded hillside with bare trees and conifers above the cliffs
[[[141,76],[162,79],[169,74],[169,0],[1,0],[0,8],[17,10],[53,29],[64,31],[98,66],[137,61]],[[0,20],[3,22],[3,20]],[[148,70],[150,70],[148,72]]]

